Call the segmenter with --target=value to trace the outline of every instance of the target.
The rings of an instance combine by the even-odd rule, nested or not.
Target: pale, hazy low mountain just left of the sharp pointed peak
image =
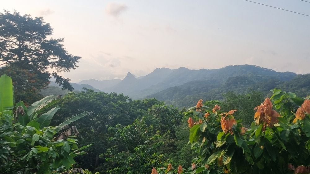
[[[120,83],[121,79],[113,79],[113,80],[96,80],[96,79],[89,79],[89,80],[82,80],[78,84],[88,84],[96,89],[100,89],[101,91],[105,88],[112,87],[117,83]]]

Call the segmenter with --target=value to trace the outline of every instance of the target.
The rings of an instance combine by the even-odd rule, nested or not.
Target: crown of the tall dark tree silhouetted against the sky
[[[45,76],[41,88],[54,76],[63,89],[73,90],[70,79],[59,73],[78,67],[81,57],[69,54],[62,45],[64,39],[51,38],[52,33],[51,25],[42,17],[32,18],[16,11],[0,13],[0,66],[15,66]],[[51,69],[54,71],[49,72]]]

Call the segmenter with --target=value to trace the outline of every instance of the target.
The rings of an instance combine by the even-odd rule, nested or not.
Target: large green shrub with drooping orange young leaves
[[[223,113],[194,107],[185,112],[197,121],[189,124],[189,142],[199,154],[193,172],[293,173],[309,165],[310,100],[280,89],[272,92],[273,106],[280,114],[266,98],[255,108],[250,129],[235,120],[236,110]],[[204,117],[206,112],[209,115]]]

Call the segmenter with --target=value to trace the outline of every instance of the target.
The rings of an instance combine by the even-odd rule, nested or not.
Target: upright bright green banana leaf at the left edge
[[[8,107],[13,107],[13,84],[11,77],[3,74],[0,77],[0,113],[11,115],[12,111],[7,110]]]

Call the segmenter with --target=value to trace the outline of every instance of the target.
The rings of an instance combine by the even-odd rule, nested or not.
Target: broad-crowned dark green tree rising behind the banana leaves
[[[156,99],[131,100],[128,96],[116,93],[95,92],[91,89],[74,93],[69,92],[57,105],[62,108],[53,119],[53,124],[60,124],[68,115],[87,112],[88,117],[82,118],[75,125],[80,131],[80,144],[94,144],[88,148],[87,154],[77,157],[79,167],[100,173],[111,169],[105,156],[107,150],[114,146],[109,142],[112,132],[108,128],[117,124],[130,125],[135,119],[146,117],[148,125],[158,125],[155,117],[149,114],[148,108],[162,102]],[[101,155],[102,154],[102,155]],[[99,158],[101,155],[101,158]]]

